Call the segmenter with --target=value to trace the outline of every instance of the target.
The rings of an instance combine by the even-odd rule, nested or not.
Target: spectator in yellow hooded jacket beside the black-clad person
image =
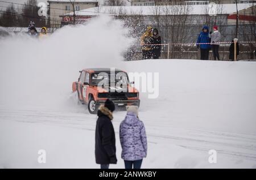
[[[150,59],[152,56],[152,27],[147,27],[147,31],[141,37],[142,58]]]

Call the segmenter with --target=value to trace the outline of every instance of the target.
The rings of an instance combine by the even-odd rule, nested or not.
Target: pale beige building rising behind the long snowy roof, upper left
[[[97,7],[96,0],[71,0],[74,3],[75,11],[84,10],[86,8]],[[73,12],[73,5],[69,0],[48,0],[48,18],[50,27],[60,27],[60,15]]]

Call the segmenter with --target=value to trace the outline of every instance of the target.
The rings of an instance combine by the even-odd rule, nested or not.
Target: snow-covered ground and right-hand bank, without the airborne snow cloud
[[[139,117],[148,136],[143,168],[256,168],[254,62],[160,60],[125,62],[127,70],[159,72],[159,97],[142,95]],[[94,162],[96,115],[70,109],[0,109],[1,168],[98,168]],[[114,113],[118,164],[123,168]],[[37,161],[39,149],[47,163]],[[209,164],[208,151],[217,151]]]

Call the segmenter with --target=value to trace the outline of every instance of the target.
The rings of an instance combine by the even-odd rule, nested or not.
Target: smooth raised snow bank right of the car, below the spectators
[[[159,97],[142,93],[142,112],[182,127],[256,132],[256,63],[182,59],[127,62],[127,71],[159,72]],[[137,85],[137,88],[139,86]]]

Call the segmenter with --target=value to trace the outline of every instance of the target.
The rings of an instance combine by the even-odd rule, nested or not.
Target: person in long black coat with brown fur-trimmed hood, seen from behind
[[[109,164],[117,164],[115,156],[115,132],[112,125],[114,103],[107,99],[104,105],[98,109],[96,135],[95,135],[95,157],[96,164],[101,165],[101,169],[108,169]]]

